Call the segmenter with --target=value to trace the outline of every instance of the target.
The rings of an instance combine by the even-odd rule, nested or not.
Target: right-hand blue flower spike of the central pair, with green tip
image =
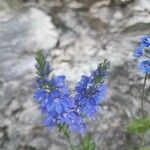
[[[76,103],[79,111],[86,117],[94,118],[98,106],[106,95],[107,86],[104,79],[108,74],[109,62],[104,61],[88,76],[82,76],[76,86]]]

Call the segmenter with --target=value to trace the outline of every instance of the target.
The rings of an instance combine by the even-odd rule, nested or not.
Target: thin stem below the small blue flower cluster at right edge
[[[142,92],[141,92],[141,116],[144,119],[144,95],[145,95],[145,85],[146,85],[146,80],[147,80],[148,74],[145,74],[145,78],[144,78],[144,83],[142,86]],[[142,133],[141,135],[141,141],[140,141],[140,146],[139,148],[142,148],[144,146],[144,135],[145,132]]]

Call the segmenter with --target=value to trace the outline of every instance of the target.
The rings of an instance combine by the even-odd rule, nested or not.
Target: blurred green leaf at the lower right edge
[[[127,124],[129,133],[143,133],[150,130],[150,117],[137,118]]]

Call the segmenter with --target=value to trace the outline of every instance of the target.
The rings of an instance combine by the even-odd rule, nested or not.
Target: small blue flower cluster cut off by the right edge
[[[140,46],[135,49],[134,57],[139,60],[139,68],[144,73],[150,73],[150,36],[140,40]]]

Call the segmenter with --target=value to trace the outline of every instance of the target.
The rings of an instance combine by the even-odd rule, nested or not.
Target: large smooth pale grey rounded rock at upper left
[[[58,32],[51,18],[36,8],[12,15],[0,22],[1,51],[37,51],[56,46]]]

